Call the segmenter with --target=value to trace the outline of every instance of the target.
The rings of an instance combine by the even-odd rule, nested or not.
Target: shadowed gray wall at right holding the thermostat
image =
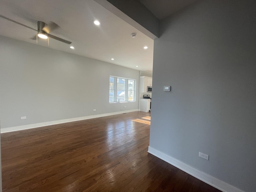
[[[153,79],[150,147],[255,192],[256,2],[205,0],[163,20]]]

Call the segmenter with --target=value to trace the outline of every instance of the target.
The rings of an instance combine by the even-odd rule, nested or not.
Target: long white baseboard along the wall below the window
[[[73,121],[80,121],[80,120],[98,118],[98,117],[105,117],[105,116],[117,115],[117,114],[134,112],[134,111],[138,111],[138,109],[126,110],[126,111],[118,111],[118,112],[98,114],[98,115],[91,115],[91,116],[84,116],[84,117],[78,117],[78,118],[63,119],[63,120],[43,122],[43,123],[36,123],[36,124],[30,124],[30,125],[22,125],[22,126],[16,126],[16,127],[8,127],[8,128],[2,128],[1,129],[1,133],[8,133],[8,132],[13,132],[13,131],[21,131],[21,130],[26,130],[26,129],[32,129],[32,128],[48,126],[48,125],[55,125],[55,124],[73,122]]]

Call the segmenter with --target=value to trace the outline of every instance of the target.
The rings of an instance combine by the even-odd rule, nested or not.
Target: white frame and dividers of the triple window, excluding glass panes
[[[108,99],[109,103],[118,103],[118,102],[136,102],[136,79],[132,79],[132,78],[123,78],[123,77],[118,77],[118,76],[112,76],[110,75],[109,76],[109,83],[110,83],[110,78],[114,78],[114,82],[113,82],[113,88],[114,89],[110,89],[109,88],[109,92],[108,92],[108,97],[110,98],[110,90],[113,90],[113,101],[110,102],[110,100]],[[124,79],[124,101],[118,101],[118,79]],[[134,81],[134,86],[133,86],[133,90],[130,90],[130,91],[133,91],[133,100],[132,101],[129,101],[128,100],[128,92],[129,92],[129,80],[132,80]]]

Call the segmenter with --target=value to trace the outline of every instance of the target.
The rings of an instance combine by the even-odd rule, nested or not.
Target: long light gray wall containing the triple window
[[[2,36],[0,58],[1,129],[138,109],[137,70]],[[136,79],[136,102],[108,102],[110,75]]]

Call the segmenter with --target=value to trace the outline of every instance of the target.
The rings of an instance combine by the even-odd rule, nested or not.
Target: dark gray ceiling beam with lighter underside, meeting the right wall
[[[94,0],[151,39],[159,37],[160,21],[146,7],[135,0]],[[136,4],[136,5],[135,5]]]

